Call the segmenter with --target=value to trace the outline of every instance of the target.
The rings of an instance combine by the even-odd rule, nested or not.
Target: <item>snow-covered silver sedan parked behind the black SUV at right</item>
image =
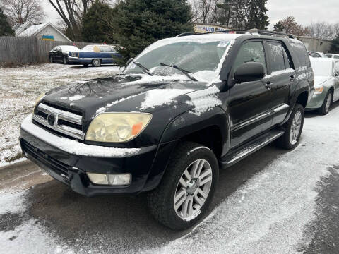
[[[339,59],[312,59],[315,92],[307,110],[328,114],[331,104],[339,99]]]

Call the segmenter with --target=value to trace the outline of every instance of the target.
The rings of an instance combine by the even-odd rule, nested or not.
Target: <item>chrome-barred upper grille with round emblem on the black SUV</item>
[[[79,140],[85,137],[82,119],[81,112],[49,102],[40,103],[33,115],[33,120],[40,123],[40,126]]]

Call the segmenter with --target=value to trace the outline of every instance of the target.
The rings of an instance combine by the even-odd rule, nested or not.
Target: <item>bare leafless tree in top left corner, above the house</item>
[[[4,13],[12,25],[26,21],[37,23],[44,18],[39,0],[2,0],[2,2]]]

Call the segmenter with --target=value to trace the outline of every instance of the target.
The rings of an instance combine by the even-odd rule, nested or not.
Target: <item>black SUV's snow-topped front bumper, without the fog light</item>
[[[25,157],[54,179],[71,186],[77,193],[93,196],[152,190],[160,182],[176,142],[138,149],[86,145],[45,131],[32,123],[29,116],[20,127],[20,145]],[[131,183],[129,186],[99,186],[90,182],[86,172],[130,173]]]

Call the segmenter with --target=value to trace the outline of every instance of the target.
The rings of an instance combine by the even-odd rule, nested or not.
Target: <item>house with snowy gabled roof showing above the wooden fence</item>
[[[52,25],[52,23],[33,25],[30,22],[26,22],[22,25],[14,25],[13,30],[16,32],[17,37],[35,36],[40,40],[72,42],[66,35],[60,32],[58,28]]]

